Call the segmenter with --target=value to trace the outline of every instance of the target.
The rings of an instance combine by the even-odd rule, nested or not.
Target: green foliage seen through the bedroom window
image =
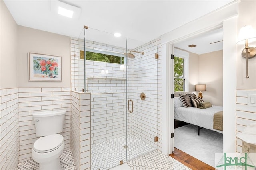
[[[174,57],[174,92],[184,91],[184,59]]]

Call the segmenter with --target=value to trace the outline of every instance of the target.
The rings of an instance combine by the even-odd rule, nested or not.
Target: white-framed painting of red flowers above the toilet
[[[29,53],[28,61],[29,81],[62,81],[61,57]]]

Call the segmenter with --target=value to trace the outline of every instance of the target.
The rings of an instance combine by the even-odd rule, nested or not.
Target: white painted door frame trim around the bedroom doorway
[[[236,152],[236,35],[239,1],[230,3],[225,8],[216,10],[205,17],[191,23],[182,25],[178,29],[170,31],[161,37],[163,64],[163,92],[162,92],[162,152],[170,154],[174,152],[174,100],[171,98],[173,88],[173,61],[174,44],[214,30],[223,26],[223,151]],[[230,67],[231,66],[231,67]]]

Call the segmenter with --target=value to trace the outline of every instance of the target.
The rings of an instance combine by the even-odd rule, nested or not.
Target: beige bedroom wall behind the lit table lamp
[[[189,57],[189,91],[195,84],[206,84],[203,99],[213,105],[223,106],[223,54],[222,50]],[[198,94],[198,92],[194,92]]]

